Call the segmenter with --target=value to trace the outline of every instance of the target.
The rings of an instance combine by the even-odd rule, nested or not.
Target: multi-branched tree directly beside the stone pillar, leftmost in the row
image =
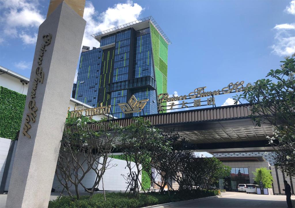
[[[80,198],[78,186],[82,186],[90,194],[90,199],[98,187],[104,172],[110,168],[108,154],[114,148],[118,136],[119,126],[106,119],[98,122],[96,132],[89,127],[86,117],[67,120],[58,156],[55,174],[69,196],[74,199],[70,191],[75,187],[76,197]],[[83,178],[89,171],[96,173],[92,187],[83,184]]]

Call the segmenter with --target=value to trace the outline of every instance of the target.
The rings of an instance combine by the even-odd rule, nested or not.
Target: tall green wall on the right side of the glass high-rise
[[[153,61],[157,82],[157,93],[167,92],[168,44],[158,30],[150,23]]]

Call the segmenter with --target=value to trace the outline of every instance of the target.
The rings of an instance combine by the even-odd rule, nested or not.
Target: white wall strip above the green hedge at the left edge
[[[27,95],[29,84],[23,84],[20,79],[4,73],[0,75],[0,86]]]

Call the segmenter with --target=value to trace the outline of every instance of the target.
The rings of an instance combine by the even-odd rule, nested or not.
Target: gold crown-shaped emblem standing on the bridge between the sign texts
[[[145,107],[148,100],[149,99],[143,99],[137,101],[136,97],[132,95],[128,103],[119,103],[118,105],[123,113],[136,113],[140,112]]]

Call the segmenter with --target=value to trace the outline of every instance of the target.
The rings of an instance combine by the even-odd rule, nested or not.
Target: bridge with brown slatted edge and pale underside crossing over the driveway
[[[189,141],[188,149],[198,151],[270,151],[266,136],[273,135],[271,125],[255,126],[250,119],[251,105],[232,105],[168,112],[142,116],[165,131],[174,130]],[[132,118],[113,119],[123,127]],[[93,130],[98,125],[91,124]]]

